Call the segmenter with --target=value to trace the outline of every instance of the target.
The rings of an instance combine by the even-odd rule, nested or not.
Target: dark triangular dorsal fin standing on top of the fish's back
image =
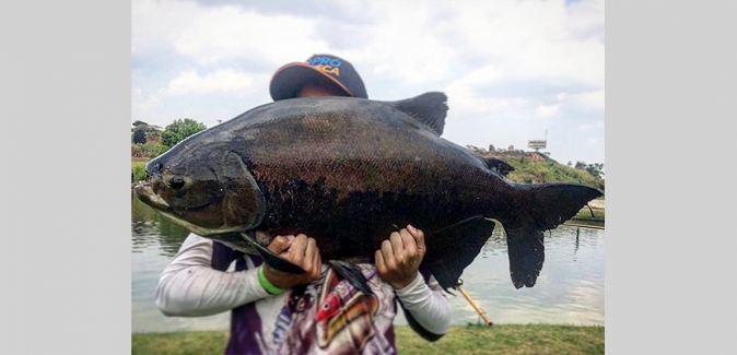
[[[418,121],[428,126],[431,130],[443,134],[445,128],[445,115],[448,111],[447,96],[441,92],[424,93],[412,98],[388,103],[389,106],[412,116]]]

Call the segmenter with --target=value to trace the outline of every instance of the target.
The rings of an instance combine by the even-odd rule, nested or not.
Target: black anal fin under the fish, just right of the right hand
[[[472,217],[440,230],[442,237],[425,237],[423,263],[443,289],[458,288],[458,279],[481,252],[495,226],[494,221]]]

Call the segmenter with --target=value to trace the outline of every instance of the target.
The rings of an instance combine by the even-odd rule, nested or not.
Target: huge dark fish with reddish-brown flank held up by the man
[[[373,262],[391,232],[412,224],[425,233],[423,264],[445,289],[456,288],[499,222],[512,282],[531,287],[543,232],[601,192],[506,179],[506,163],[441,138],[446,113],[442,93],[270,103],[149,162],[151,181],[137,196],[194,233],[290,272],[301,269],[264,248],[277,235],[314,237],[323,260],[344,265]]]

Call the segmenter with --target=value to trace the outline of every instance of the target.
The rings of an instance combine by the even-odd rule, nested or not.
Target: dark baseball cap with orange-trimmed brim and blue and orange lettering
[[[368,98],[363,80],[353,64],[332,55],[314,55],[304,62],[279,68],[271,78],[269,93],[273,100],[296,97],[305,84],[325,79],[349,96]]]

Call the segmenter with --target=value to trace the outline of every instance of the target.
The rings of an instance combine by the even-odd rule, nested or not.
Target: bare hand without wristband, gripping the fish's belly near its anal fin
[[[395,289],[405,288],[417,277],[425,250],[422,230],[407,225],[391,233],[376,250],[376,272]]]

